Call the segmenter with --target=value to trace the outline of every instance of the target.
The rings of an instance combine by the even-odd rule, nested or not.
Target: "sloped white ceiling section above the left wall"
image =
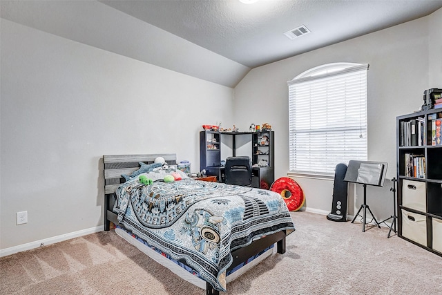
[[[3,19],[234,87],[250,70],[99,1],[0,1]],[[178,49],[178,50],[177,50]]]

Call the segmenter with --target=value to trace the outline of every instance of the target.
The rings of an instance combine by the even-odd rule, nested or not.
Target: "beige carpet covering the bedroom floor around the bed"
[[[442,258],[387,229],[292,212],[287,252],[224,294],[442,294]],[[1,294],[204,294],[113,231],[0,259]]]

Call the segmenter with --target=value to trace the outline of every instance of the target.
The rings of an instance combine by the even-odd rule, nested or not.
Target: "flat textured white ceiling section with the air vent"
[[[100,1],[249,68],[430,15],[436,0]],[[294,40],[284,32],[305,25]]]

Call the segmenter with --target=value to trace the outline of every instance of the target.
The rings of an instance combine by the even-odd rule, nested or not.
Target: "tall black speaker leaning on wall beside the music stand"
[[[347,165],[340,163],[334,171],[332,212],[327,215],[328,220],[347,221],[347,187],[344,181]]]

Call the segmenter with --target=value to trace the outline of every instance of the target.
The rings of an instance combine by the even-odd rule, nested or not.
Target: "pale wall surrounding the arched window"
[[[272,125],[276,137],[276,178],[287,175],[289,170],[287,81],[322,64],[368,63],[368,160],[388,162],[389,166],[384,187],[367,188],[367,204],[378,220],[390,217],[393,213],[390,180],[396,176],[396,116],[418,110],[423,103],[423,91],[435,86],[430,82],[430,73],[433,79],[441,75],[440,68],[428,62],[428,48],[432,43],[429,40],[442,37],[440,26],[433,27],[440,23],[441,11],[434,12],[434,16],[254,68],[242,79],[235,88],[236,121],[240,128],[251,122]],[[440,50],[432,55],[440,61]],[[330,212],[332,180],[296,177],[296,181],[305,192],[307,209]],[[349,196],[349,213],[354,214],[362,202],[362,186],[356,186],[356,196]]]

